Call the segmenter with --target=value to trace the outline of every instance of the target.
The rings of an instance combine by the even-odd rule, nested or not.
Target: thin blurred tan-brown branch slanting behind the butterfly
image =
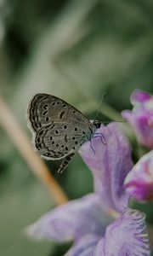
[[[14,114],[8,108],[7,104],[0,96],[0,125],[3,126],[4,131],[8,133],[8,137],[14,143],[14,146],[19,150],[22,157],[31,167],[32,172],[45,184],[49,193],[54,197],[54,201],[58,204],[64,204],[68,201],[64,191],[59,184],[54,180],[48,167],[45,165],[40,156],[35,153],[31,147],[31,143],[26,137],[26,133],[22,130]]]

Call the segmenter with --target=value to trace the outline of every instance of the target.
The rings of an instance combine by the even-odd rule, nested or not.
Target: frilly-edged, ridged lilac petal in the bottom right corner
[[[99,241],[95,256],[149,256],[144,218],[142,212],[127,209],[107,227],[105,239]]]

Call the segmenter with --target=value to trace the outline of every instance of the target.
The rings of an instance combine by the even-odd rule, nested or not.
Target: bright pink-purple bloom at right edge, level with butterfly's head
[[[131,96],[133,110],[125,110],[122,116],[133,126],[139,142],[153,148],[153,96],[142,90],[134,90]]]

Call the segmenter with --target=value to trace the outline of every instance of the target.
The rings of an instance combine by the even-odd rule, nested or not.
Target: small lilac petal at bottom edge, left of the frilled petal
[[[71,247],[65,256],[93,256],[98,241],[98,236],[83,236]]]

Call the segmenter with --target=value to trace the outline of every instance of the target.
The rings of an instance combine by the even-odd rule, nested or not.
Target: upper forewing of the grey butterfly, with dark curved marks
[[[63,119],[75,119],[88,124],[88,119],[69,103],[56,96],[37,94],[32,97],[27,109],[27,116],[31,131],[37,132],[43,126]]]

